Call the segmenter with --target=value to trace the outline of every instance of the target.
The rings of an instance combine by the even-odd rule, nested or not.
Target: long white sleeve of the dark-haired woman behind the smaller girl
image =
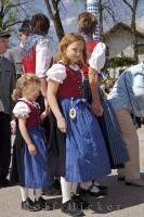
[[[45,77],[52,62],[52,51],[47,38],[40,39],[36,46],[36,75]]]

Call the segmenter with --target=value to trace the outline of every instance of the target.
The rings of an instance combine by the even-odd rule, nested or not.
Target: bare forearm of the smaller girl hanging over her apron
[[[30,155],[32,155],[32,156],[37,155],[36,146],[32,143],[32,141],[30,140],[27,128],[26,128],[26,118],[25,117],[18,117],[18,128],[19,128],[23,139],[25,140],[25,142],[27,144]]]

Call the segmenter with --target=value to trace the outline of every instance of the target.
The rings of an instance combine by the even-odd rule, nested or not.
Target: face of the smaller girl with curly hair
[[[34,102],[35,100],[37,100],[39,93],[40,87],[37,84],[32,84],[24,89],[23,97]]]

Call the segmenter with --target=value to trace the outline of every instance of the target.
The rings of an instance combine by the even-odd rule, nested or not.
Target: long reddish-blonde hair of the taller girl
[[[87,61],[87,49],[86,49],[86,41],[80,34],[70,33],[68,35],[65,35],[60,43],[58,52],[56,55],[56,62],[62,61],[65,65],[70,64],[70,60],[66,55],[66,49],[70,43],[74,43],[76,41],[83,42],[83,51],[82,51],[82,60],[78,62],[79,65],[82,65]]]

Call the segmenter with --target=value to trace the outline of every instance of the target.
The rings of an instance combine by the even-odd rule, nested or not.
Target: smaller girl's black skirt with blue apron
[[[27,144],[18,131],[13,148],[10,179],[13,183],[17,182],[22,187],[32,189],[51,186],[53,177],[50,175],[48,166],[48,146],[44,141],[44,130],[41,127],[29,128],[28,135],[36,145],[37,155],[29,154]]]

